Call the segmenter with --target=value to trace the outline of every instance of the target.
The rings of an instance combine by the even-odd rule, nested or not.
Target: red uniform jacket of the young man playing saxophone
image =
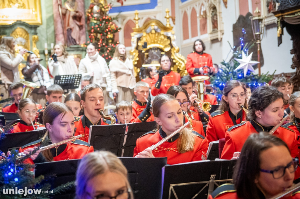
[[[101,118],[97,124],[93,124],[85,115],[75,117],[75,128],[76,128],[75,136],[81,134],[82,137],[79,138],[79,140],[88,142],[90,126],[92,126],[92,125],[109,125],[110,123],[111,123],[110,120],[107,120],[104,118]]]

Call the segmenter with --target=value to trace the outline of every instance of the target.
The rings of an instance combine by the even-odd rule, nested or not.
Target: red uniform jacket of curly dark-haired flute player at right
[[[226,143],[221,154],[221,159],[230,160],[234,152],[241,152],[241,149],[250,134],[258,133],[261,131],[269,132],[272,128],[273,126],[268,128],[263,127],[262,125],[256,123],[254,120],[250,120],[229,128],[225,134]],[[299,157],[297,136],[294,131],[284,126],[280,126],[273,133],[273,135],[279,137],[287,144],[293,158]],[[297,179],[298,177],[300,177],[299,167],[295,171],[295,179]]]

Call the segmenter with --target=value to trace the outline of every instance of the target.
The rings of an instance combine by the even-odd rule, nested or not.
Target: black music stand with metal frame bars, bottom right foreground
[[[230,163],[231,161],[234,163]],[[233,167],[235,162],[204,160],[164,166],[162,198],[208,198],[208,194],[217,186],[232,180],[230,167]]]

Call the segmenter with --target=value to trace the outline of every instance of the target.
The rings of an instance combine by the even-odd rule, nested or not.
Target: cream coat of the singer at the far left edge
[[[20,54],[17,54],[14,58],[6,50],[0,50],[1,79],[5,85],[19,82],[20,74],[18,66],[23,60],[24,58]]]

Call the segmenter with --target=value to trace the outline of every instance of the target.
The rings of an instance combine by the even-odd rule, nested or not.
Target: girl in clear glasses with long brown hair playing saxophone
[[[246,120],[246,113],[240,104],[247,107],[247,90],[242,82],[230,80],[226,82],[222,100],[217,111],[211,113],[206,128],[208,143],[225,138],[225,132],[232,126]]]

